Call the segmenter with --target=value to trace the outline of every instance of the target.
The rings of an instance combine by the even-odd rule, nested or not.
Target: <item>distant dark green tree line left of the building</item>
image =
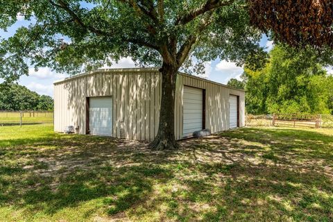
[[[53,99],[16,83],[1,83],[0,110],[53,110]]]

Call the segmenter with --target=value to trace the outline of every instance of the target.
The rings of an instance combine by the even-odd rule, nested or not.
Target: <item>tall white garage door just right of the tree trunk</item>
[[[184,87],[182,137],[203,129],[203,89]]]

